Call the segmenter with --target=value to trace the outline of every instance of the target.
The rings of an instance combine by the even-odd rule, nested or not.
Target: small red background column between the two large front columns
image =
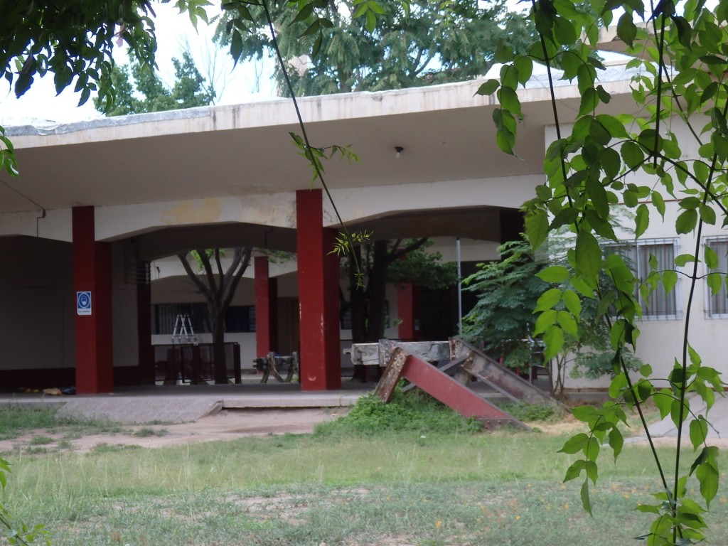
[[[256,273],[256,357],[278,349],[278,282],[269,276],[268,256],[253,260]]]

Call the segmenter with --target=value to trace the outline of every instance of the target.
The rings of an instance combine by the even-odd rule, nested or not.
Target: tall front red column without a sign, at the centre
[[[341,388],[336,230],[323,227],[320,189],[296,191],[301,390]]]

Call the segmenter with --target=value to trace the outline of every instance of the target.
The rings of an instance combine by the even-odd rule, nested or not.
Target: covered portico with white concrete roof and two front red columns
[[[38,275],[54,304],[23,274],[8,277],[6,286],[47,307],[31,312],[21,298],[2,324],[28,337],[33,314],[58,314],[48,327],[60,330],[50,357],[60,365],[46,353],[31,369],[72,365],[79,392],[110,392],[117,368],[136,367],[141,377],[149,367],[149,286],[128,281],[138,264],[191,248],[286,250],[298,260],[301,389],[338,388],[334,207],[349,229],[377,239],[499,242],[518,234],[516,211],[542,183],[547,94],[524,92],[518,157],[507,157],[494,144],[496,100],[475,95],[479,84],[300,100],[314,146],[351,145],[360,159],[325,162],[333,202],[291,143],[298,127],[288,100],[9,128],[21,176],[0,174],[0,236],[21,253],[37,252],[26,244],[37,240],[72,252],[70,264]],[[562,108],[578,108],[575,88],[559,91]],[[259,267],[261,294],[270,294]],[[69,275],[72,294],[61,282]],[[0,341],[0,354],[15,342]],[[0,362],[0,376],[14,377],[14,365]]]

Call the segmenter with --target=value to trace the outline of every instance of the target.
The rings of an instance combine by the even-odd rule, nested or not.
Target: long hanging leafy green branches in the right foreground
[[[622,11],[615,12],[617,9]],[[728,190],[728,49],[724,45],[728,41],[728,2],[720,1],[711,10],[701,1],[689,0],[681,9],[678,12],[671,0],[651,4],[649,10],[641,0],[592,0],[585,6],[569,0],[532,1],[531,18],[539,39],[528,55],[515,56],[502,66],[499,80],[489,80],[479,90],[483,95],[496,94],[500,103],[494,112],[496,142],[507,154],[515,154],[518,121],[523,117],[517,89],[528,82],[534,63],[546,68],[557,137],[547,149],[547,181],[525,205],[526,234],[534,248],[563,226],[574,233],[575,240],[569,252],[573,272],[566,287],[551,298],[550,309],[539,309],[543,330],[553,332],[546,353],[547,357],[556,355],[563,347],[563,332],[558,332],[565,328],[553,308],[562,301],[566,304],[566,293],[576,290],[593,299],[614,349],[615,376],[609,394],[618,400],[599,409],[574,411],[589,432],[574,436],[563,446],[567,454],[582,454],[569,468],[566,480],[585,476],[582,505],[591,513],[589,482],[598,479],[601,446],[608,443],[616,458],[622,447],[618,425],[625,422],[625,408],[637,411],[660,481],[654,505],[639,507],[656,516],[649,533],[641,537],[648,545],[703,540],[703,513],[716,496],[720,475],[717,448],[705,444],[707,415],[693,416],[689,427],[686,422],[690,415],[687,395],[703,398],[707,414],[715,393],[724,387],[719,373],[703,365],[689,343],[689,334],[701,276],[698,266],[701,261],[708,267],[718,262],[704,245],[704,226],[728,221],[724,197]],[[635,20],[640,19],[646,24],[637,25]],[[615,21],[617,36],[634,57],[627,70],[633,75],[631,94],[640,108],[636,114],[607,113],[612,94],[599,82],[599,74],[606,68],[596,52],[598,30]],[[510,60],[514,55],[503,48],[498,58]],[[566,120],[573,123],[570,132],[556,108],[555,66],[561,71],[558,77],[576,81],[581,96],[577,115]],[[665,380],[651,378],[649,366],[633,378],[625,355],[636,348],[643,301],[656,290],[670,293],[674,289],[678,264],[658,264],[652,256],[649,273],[639,277],[619,253],[603,256],[597,237],[618,242],[609,215],[615,205],[623,203],[634,211],[634,233],[639,239],[649,228],[651,216],[665,220],[668,200],[678,207],[675,234],[694,237],[693,252],[678,257],[678,264],[689,268],[683,348]],[[598,282],[603,274],[611,280],[609,288]],[[712,293],[723,282],[720,274],[713,274],[708,282]],[[667,387],[662,387],[665,383]],[[643,405],[649,400],[663,418],[670,416],[678,430],[672,471],[654,448],[646,426]],[[696,452],[687,474],[681,472],[685,434]],[[688,496],[688,482],[693,478],[704,506]]]

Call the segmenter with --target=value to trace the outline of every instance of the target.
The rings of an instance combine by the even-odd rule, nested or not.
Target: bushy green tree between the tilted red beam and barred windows
[[[540,336],[534,309],[561,296],[563,275],[568,274],[568,261],[563,235],[550,242],[551,256],[537,259],[525,240],[510,241],[498,250],[499,261],[479,264],[478,272],[463,282],[465,290],[475,292],[478,301],[463,318],[463,337],[483,348],[492,357],[502,359],[509,368],[523,369],[529,365],[545,365],[541,360]],[[604,276],[602,286],[609,283]],[[568,302],[569,307],[566,306]],[[550,307],[549,307],[550,308]],[[579,309],[577,323],[569,318],[569,309]],[[614,349],[609,340],[609,328],[600,320],[592,298],[567,296],[555,307],[564,323],[564,343],[558,354],[550,359],[549,383],[551,394],[563,396],[566,370],[571,365],[572,376],[591,379],[614,374]],[[631,352],[625,355],[630,371],[636,371],[641,361]]]

